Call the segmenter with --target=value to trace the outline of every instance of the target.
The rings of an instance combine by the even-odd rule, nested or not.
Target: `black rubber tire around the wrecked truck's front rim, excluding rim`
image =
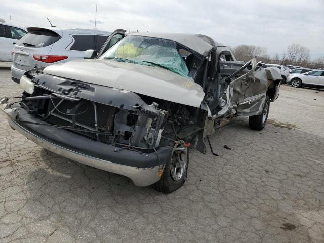
[[[171,176],[171,161],[169,161],[164,168],[162,177],[159,181],[155,182],[151,185],[151,187],[157,191],[163,192],[163,193],[171,193],[173,191],[178,190],[186,181],[187,174],[188,174],[188,166],[189,166],[189,148],[187,149],[187,165],[185,172],[182,176],[182,178],[178,181],[175,181]]]

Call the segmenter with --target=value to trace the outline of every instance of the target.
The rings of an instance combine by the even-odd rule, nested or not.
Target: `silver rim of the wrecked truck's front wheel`
[[[183,178],[187,169],[188,150],[185,147],[178,147],[173,150],[171,159],[171,177],[175,181]]]

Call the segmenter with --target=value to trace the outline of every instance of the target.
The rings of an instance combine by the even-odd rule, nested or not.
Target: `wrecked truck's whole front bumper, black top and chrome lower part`
[[[9,107],[4,99],[1,99],[0,103],[0,110],[8,115],[10,127],[27,139],[79,163],[126,176],[137,186],[148,186],[157,182],[160,179],[159,170],[163,169],[171,159],[172,147],[159,148],[158,158],[154,152],[140,154],[128,149],[114,152],[114,146],[93,141],[65,129],[26,124],[22,121],[35,122],[36,120],[39,124],[43,122],[23,109],[18,113],[14,107]]]

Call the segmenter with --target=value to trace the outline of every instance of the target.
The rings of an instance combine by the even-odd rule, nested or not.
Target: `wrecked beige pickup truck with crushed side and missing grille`
[[[235,116],[264,128],[280,80],[205,35],[119,30],[85,60],[26,72],[22,97],[0,106],[45,149],[170,193],[187,178],[189,148],[205,154],[215,128]]]

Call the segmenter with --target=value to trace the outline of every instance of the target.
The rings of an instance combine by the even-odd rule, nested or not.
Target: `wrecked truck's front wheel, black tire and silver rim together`
[[[174,147],[171,161],[164,168],[161,179],[151,187],[163,193],[178,190],[186,181],[189,166],[189,148],[178,145]]]

